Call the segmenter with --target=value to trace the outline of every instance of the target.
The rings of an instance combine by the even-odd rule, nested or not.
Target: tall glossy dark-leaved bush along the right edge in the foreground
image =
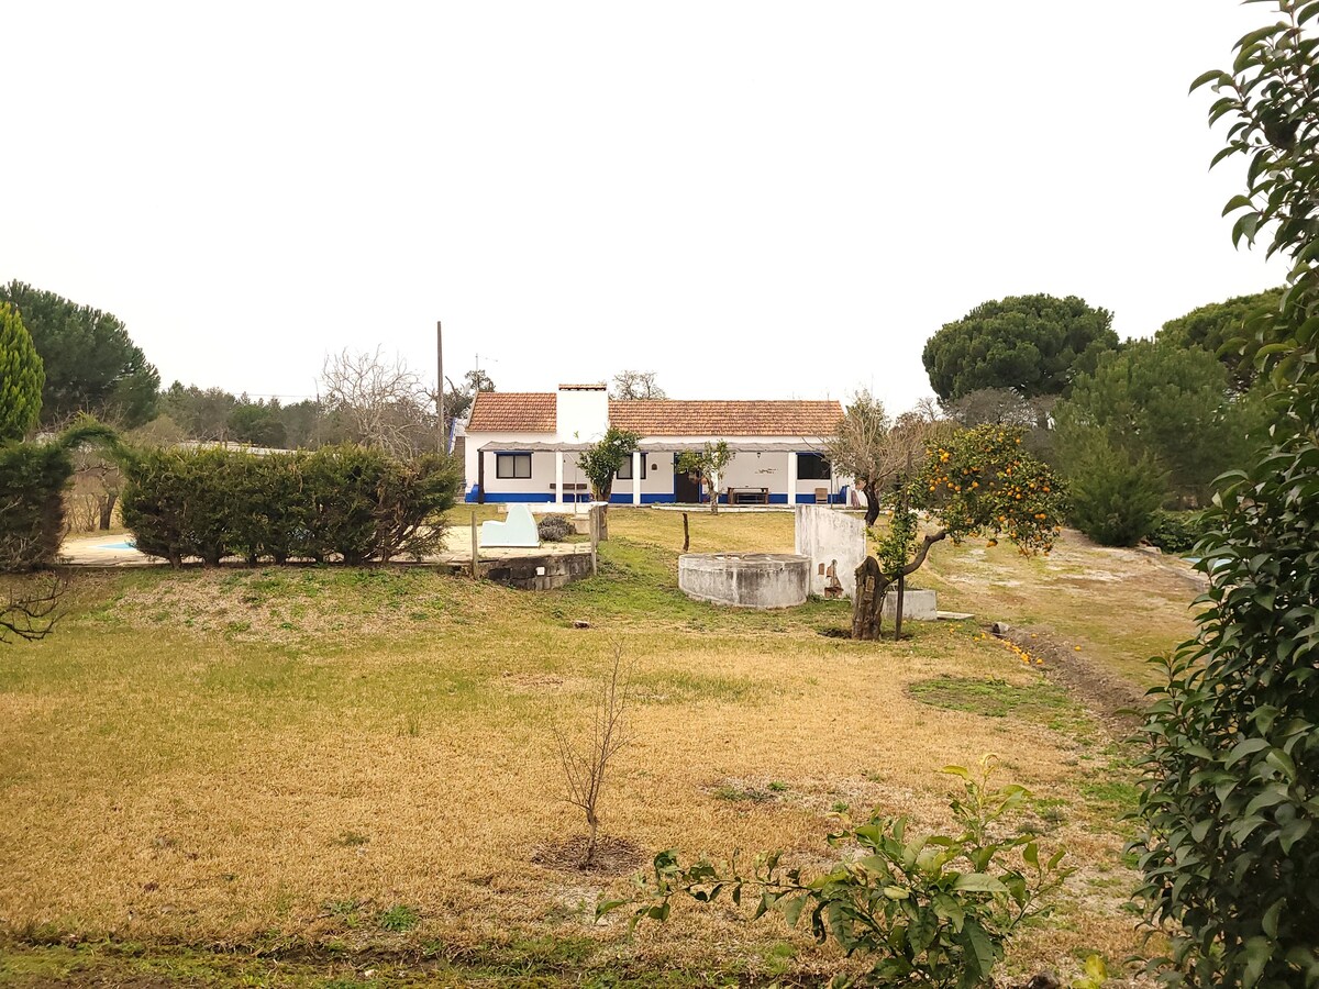
[[[1319,986],[1319,4],[1277,8],[1192,84],[1231,123],[1215,161],[1250,161],[1233,240],[1266,236],[1290,272],[1225,344],[1269,372],[1268,447],[1217,481],[1199,629],[1162,661],[1142,731],[1140,895],[1175,986]]]

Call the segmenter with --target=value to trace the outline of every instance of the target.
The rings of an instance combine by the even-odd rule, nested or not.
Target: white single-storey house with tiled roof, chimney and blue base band
[[[698,504],[710,498],[678,469],[678,458],[725,440],[733,458],[715,494],[721,502],[845,504],[851,479],[824,458],[843,407],[836,401],[612,401],[605,385],[555,392],[481,392],[464,442],[467,500],[588,501],[578,456],[609,426],[641,436],[613,481],[616,504]]]

